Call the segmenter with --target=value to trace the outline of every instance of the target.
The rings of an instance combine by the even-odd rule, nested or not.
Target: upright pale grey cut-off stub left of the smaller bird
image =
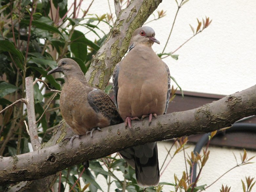
[[[34,108],[34,91],[33,91],[33,77],[25,78],[26,84],[26,99],[27,99],[27,114],[29,121],[29,133],[33,150],[38,150],[40,142],[37,135],[36,121],[35,121],[35,108]]]

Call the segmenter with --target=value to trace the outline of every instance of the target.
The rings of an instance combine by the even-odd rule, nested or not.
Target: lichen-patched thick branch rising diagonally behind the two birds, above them
[[[109,36],[85,74],[92,86],[102,90],[105,88],[116,64],[127,52],[132,33],[142,26],[161,2],[162,0],[133,0],[120,12]]]

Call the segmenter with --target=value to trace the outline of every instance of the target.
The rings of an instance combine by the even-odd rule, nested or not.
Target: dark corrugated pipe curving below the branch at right
[[[253,116],[251,116],[253,117]],[[251,118],[248,117],[248,118]],[[256,132],[256,123],[243,123],[242,121],[247,118],[241,119],[236,121],[229,129],[226,130],[226,132],[235,132],[235,131],[248,131],[248,132]],[[217,132],[216,135],[223,134],[224,132]],[[209,141],[209,136],[211,133],[205,133],[201,139],[197,142],[195,148],[194,148],[194,154],[200,153],[203,146],[206,145],[206,143]],[[190,168],[190,175],[192,174],[192,182],[196,181],[197,177],[197,163],[193,166],[193,173],[192,168]]]

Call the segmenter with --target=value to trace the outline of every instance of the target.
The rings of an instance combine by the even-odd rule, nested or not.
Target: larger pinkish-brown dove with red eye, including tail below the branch
[[[160,42],[150,27],[134,31],[129,52],[116,65],[113,73],[113,89],[117,108],[125,125],[131,120],[166,113],[170,98],[170,72],[168,66],[153,51],[153,43]],[[140,186],[156,186],[159,183],[157,143],[147,143],[119,152],[136,170]]]

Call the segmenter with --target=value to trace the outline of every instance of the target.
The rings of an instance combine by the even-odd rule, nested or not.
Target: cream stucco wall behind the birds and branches
[[[69,5],[72,2],[69,1]],[[83,10],[86,10],[91,1],[83,2]],[[114,13],[113,0],[110,0],[112,13]],[[154,28],[156,38],[160,45],[154,45],[153,49],[160,53],[169,35],[172,21],[177,9],[175,0],[163,0],[158,10],[166,11],[166,16],[158,21],[147,24]],[[95,0],[88,13],[102,15],[109,12],[107,0]],[[209,16],[211,25],[185,44],[175,54],[179,54],[179,60],[170,57],[164,59],[170,68],[171,75],[185,91],[213,93],[228,95],[242,91],[256,82],[256,1],[253,0],[190,0],[178,13],[177,21],[166,52],[174,51],[192,35],[189,24],[196,28],[197,20]],[[153,18],[150,17],[149,20]],[[106,32],[107,25],[102,25]],[[83,30],[82,28],[80,28]],[[94,36],[93,33],[89,33]],[[168,142],[160,142],[160,165],[166,155],[165,147]],[[187,152],[193,150],[193,146]],[[201,174],[200,184],[210,184],[229,168],[236,164],[233,153],[240,159],[239,153],[243,150],[210,147],[210,158]],[[256,155],[248,151],[248,156]],[[174,173],[181,177],[184,170],[184,157],[178,154],[175,157],[160,182],[173,181]],[[221,184],[231,186],[231,191],[242,191],[241,179],[245,176],[256,176],[256,164],[249,164],[232,170],[221,178],[207,192],[219,191]],[[98,179],[104,191],[105,179]],[[114,185],[114,184],[113,184]],[[114,190],[114,188],[112,188]],[[173,190],[165,187],[163,191]],[[256,187],[254,187],[256,191]]]

